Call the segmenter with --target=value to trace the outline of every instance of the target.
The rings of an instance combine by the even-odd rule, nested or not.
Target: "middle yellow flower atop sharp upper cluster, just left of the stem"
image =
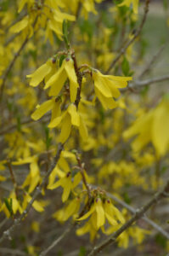
[[[74,69],[74,62],[70,58],[66,58],[62,66],[59,67],[57,73],[55,73],[46,83],[44,89],[50,87],[49,96],[58,96],[60,90],[63,88],[66,79],[70,80],[70,101],[76,101],[76,92],[78,88],[76,73]]]

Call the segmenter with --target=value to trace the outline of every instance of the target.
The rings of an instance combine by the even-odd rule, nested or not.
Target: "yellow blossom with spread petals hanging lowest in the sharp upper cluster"
[[[48,125],[49,128],[57,127],[61,125],[61,133],[59,141],[65,143],[70,136],[71,126],[74,125],[78,128],[83,140],[87,139],[87,127],[82,119],[82,115],[77,112],[76,106],[70,104],[65,113],[53,119]]]

